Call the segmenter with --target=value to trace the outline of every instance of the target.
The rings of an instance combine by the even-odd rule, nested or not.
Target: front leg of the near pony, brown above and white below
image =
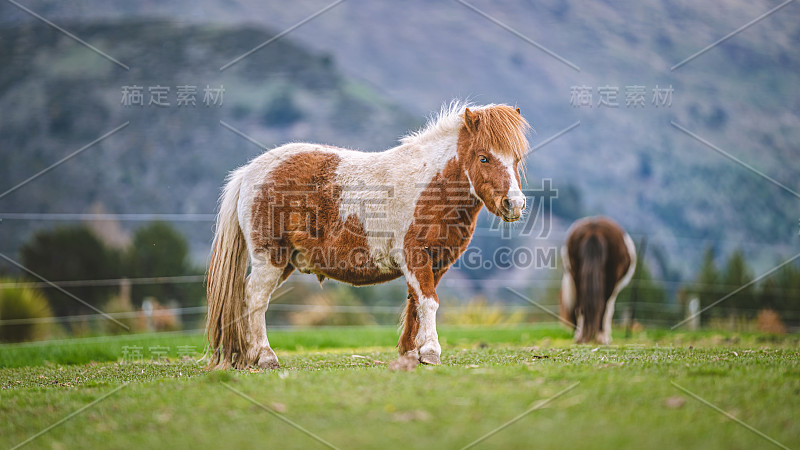
[[[416,336],[414,336],[414,351],[418,353],[420,362],[439,365],[442,355],[439,335],[436,333],[436,311],[439,309],[439,297],[436,295],[436,283],[430,263],[409,268],[406,283],[412,293],[412,298],[409,298],[408,301],[416,300],[417,330]]]

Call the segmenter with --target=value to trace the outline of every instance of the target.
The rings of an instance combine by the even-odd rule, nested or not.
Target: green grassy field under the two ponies
[[[796,335],[443,327],[442,366],[392,371],[396,336],[275,331],[270,372],[205,372],[199,334],[0,346],[0,446],[800,447]]]

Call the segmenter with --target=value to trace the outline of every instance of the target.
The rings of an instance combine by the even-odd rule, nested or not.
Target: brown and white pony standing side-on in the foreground
[[[210,366],[279,367],[264,316],[295,269],[353,285],[404,276],[399,350],[439,364],[436,285],[484,205],[520,218],[528,129],[519,109],[452,103],[383,152],[294,143],[231,172],[208,270]]]

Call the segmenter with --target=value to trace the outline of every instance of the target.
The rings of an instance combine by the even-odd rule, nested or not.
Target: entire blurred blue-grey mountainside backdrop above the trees
[[[779,3],[471,3],[580,70],[455,1],[348,0],[224,71],[330,3],[26,3],[130,71],[0,5],[4,186],[131,121],[0,199],[0,210],[209,213],[224,174],[260,151],[220,120],[267,146],[380,149],[443,102],[469,97],[520,106],[537,131],[533,145],[580,121],[527,164],[531,186],[551,178],[559,189],[552,243],[573,218],[603,213],[651,238],[662,278],[690,277],[709,245],[723,255],[744,246],[756,273],[796,253],[800,199],[670,122],[800,190],[800,5],[670,70]],[[226,103],[201,107],[200,95],[193,109],[126,108],[120,91],[130,84],[172,86],[172,95],[179,84],[224,84]],[[645,87],[642,107],[624,104],[633,85]],[[671,105],[652,103],[657,85],[673,88]],[[593,89],[592,107],[571,103],[576,86]],[[604,86],[619,88],[619,107],[598,106]],[[31,224],[2,227],[0,247],[12,251]],[[182,229],[198,257],[207,251],[210,224]],[[477,244],[497,245],[481,231]],[[535,245],[526,239],[515,242]]]

